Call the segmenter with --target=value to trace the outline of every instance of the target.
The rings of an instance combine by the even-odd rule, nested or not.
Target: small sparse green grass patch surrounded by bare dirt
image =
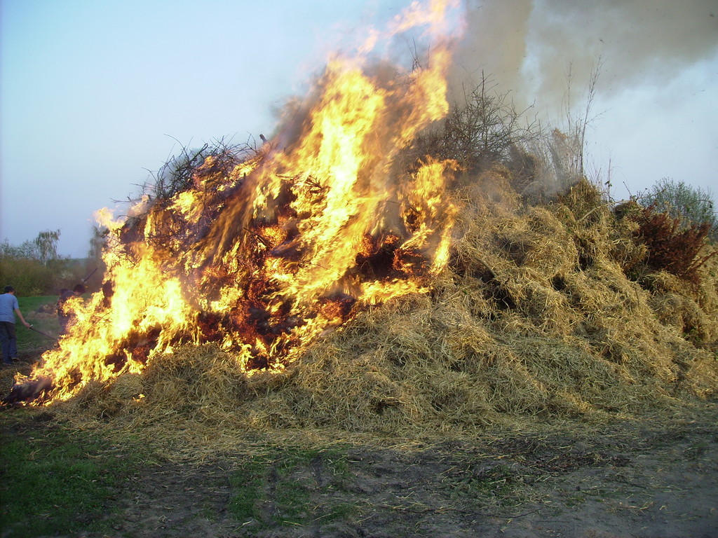
[[[315,468],[322,469],[321,484]],[[238,521],[252,523],[248,532],[345,519],[354,507],[331,494],[348,472],[347,456],[337,449],[286,448],[248,456],[230,477],[229,508]]]

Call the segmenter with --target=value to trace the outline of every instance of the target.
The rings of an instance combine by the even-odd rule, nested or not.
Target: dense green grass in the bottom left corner
[[[111,531],[118,487],[144,465],[135,450],[70,431],[46,415],[1,417],[0,529],[5,538]]]

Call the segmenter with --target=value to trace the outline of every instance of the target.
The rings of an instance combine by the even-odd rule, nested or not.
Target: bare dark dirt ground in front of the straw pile
[[[127,485],[116,530],[152,538],[718,537],[715,411],[661,427],[529,433],[480,446],[357,446],[340,478],[317,457],[288,479],[303,484],[309,506],[352,510],[302,526],[269,524],[281,496],[271,478],[256,499],[266,519],[233,519],[231,457],[167,463]]]

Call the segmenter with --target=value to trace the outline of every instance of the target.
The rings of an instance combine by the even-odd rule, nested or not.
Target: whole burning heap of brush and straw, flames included
[[[394,31],[442,27],[413,9]],[[437,431],[714,396],[715,258],[691,281],[649,267],[638,222],[586,181],[532,205],[504,166],[406,165],[448,111],[442,43],[401,76],[332,61],[255,154],[107,220],[102,291],[6,402]]]

